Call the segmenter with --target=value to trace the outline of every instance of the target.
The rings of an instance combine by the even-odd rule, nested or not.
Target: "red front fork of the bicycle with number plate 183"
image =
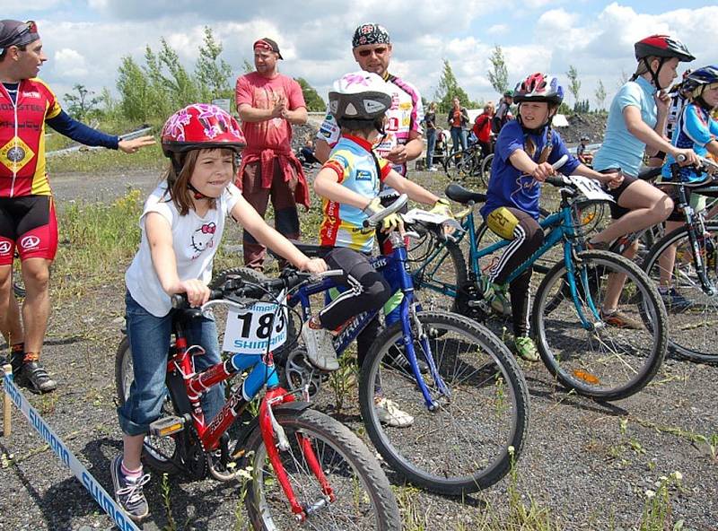
[[[259,430],[262,434],[262,440],[264,440],[265,448],[267,448],[267,457],[269,463],[275,471],[277,481],[282,487],[282,491],[285,492],[285,496],[292,507],[292,513],[298,522],[304,522],[313,512],[325,507],[328,503],[333,503],[337,497],[334,490],[329,485],[327,476],[321,469],[319,460],[314,453],[314,448],[311,444],[311,439],[297,432],[296,438],[299,443],[299,448],[302,451],[302,457],[306,460],[307,466],[309,466],[311,473],[320,482],[321,492],[324,495],[319,501],[312,503],[308,507],[302,507],[292,489],[289,477],[286,474],[285,466],[282,464],[282,460],[279,457],[280,451],[290,451],[289,440],[286,438],[286,434],[279,422],[276,422],[274,413],[272,412],[272,406],[275,404],[285,404],[293,402],[294,397],[287,395],[286,391],[281,387],[274,389],[268,389],[265,399],[262,400],[259,406]]]

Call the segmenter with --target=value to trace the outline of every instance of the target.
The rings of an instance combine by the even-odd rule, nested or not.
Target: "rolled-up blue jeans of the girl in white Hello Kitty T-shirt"
[[[140,306],[129,292],[125,295],[125,304],[135,380],[129,389],[127,402],[118,407],[119,425],[127,435],[143,435],[149,430],[150,423],[159,418],[165,400],[164,379],[175,310],[171,309],[162,318],[155,317]],[[222,361],[214,318],[194,318],[184,331],[188,345],[199,344],[205,349],[203,355],[194,358],[197,372]],[[201,402],[208,423],[222,409],[224,386],[210,388]]]

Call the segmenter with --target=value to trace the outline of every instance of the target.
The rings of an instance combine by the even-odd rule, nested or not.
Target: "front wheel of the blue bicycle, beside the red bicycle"
[[[434,399],[441,401],[430,412],[413,375],[384,363],[397,355],[402,341],[396,323],[382,331],[363,361],[359,403],[364,425],[381,457],[410,483],[449,495],[477,492],[503,478],[521,455],[529,423],[526,382],[511,353],[485,326],[449,312],[419,312],[417,319],[451,388],[451,400],[438,398],[435,384],[425,378]],[[460,351],[466,344],[466,352]],[[415,348],[421,356],[418,340]],[[374,394],[380,379],[381,396],[411,414],[411,426],[381,424]]]

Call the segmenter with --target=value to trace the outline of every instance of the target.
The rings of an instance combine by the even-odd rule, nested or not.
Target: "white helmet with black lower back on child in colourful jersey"
[[[372,72],[350,72],[334,82],[329,91],[329,112],[342,120],[373,122],[391,108],[389,85]]]

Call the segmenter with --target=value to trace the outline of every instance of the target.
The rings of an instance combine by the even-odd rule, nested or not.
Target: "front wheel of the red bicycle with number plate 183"
[[[317,501],[322,503],[322,507],[309,516],[307,527],[337,531],[401,529],[398,505],[389,480],[369,448],[352,431],[312,409],[297,412],[277,408],[273,413],[291,444],[289,450],[280,451],[280,456],[285,457],[282,461],[297,501],[304,508],[316,507]],[[321,469],[334,489],[336,501],[323,503],[325,498],[321,486],[316,477],[306,470],[306,462],[297,445],[296,435],[300,432],[312,441]],[[296,529],[297,520],[268,464],[267,448],[258,428],[250,433],[244,448],[246,457],[241,467],[251,470],[253,475],[244,500],[252,526],[273,531]],[[328,462],[325,461],[327,459]],[[344,466],[338,466],[339,459]],[[346,509],[346,514],[341,509]]]

